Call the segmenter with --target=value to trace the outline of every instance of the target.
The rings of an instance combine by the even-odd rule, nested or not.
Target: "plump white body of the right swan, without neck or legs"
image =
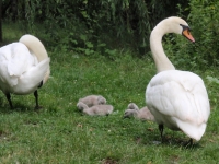
[[[183,130],[199,140],[209,116],[209,101],[203,80],[186,71],[158,73],[147,86],[146,99],[159,125]]]

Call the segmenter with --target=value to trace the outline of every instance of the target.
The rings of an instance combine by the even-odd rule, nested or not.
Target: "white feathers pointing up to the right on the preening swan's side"
[[[28,87],[38,86],[42,80],[45,79],[45,75],[49,70],[49,62],[50,58],[47,58],[41,61],[37,66],[32,67],[27,72],[21,75],[20,84],[22,86],[28,86]]]

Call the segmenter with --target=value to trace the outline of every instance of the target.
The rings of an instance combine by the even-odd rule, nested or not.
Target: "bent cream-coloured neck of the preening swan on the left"
[[[28,48],[31,54],[34,54],[37,57],[38,62],[48,58],[48,55],[44,45],[37,37],[26,34],[26,35],[23,35],[19,42],[24,44]]]

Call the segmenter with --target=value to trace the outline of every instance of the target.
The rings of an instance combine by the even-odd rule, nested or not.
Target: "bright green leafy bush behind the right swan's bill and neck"
[[[183,37],[169,38],[164,44],[166,54],[180,69],[204,70],[218,67],[219,51],[219,1],[191,0],[191,13],[185,19],[192,27],[195,44]],[[188,9],[184,9],[188,10]]]

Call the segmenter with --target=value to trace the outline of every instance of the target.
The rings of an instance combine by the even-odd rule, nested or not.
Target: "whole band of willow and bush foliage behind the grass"
[[[165,37],[174,65],[194,69],[219,65],[219,42],[215,37],[219,32],[217,0],[1,1],[4,22],[21,24],[26,33],[43,34],[46,46],[54,50],[87,56],[97,52],[112,59],[118,56],[116,49],[129,49],[138,57],[150,56],[148,38],[153,26],[168,16],[178,15],[189,23],[196,44],[185,45],[172,35]],[[182,59],[175,54],[185,56]]]

